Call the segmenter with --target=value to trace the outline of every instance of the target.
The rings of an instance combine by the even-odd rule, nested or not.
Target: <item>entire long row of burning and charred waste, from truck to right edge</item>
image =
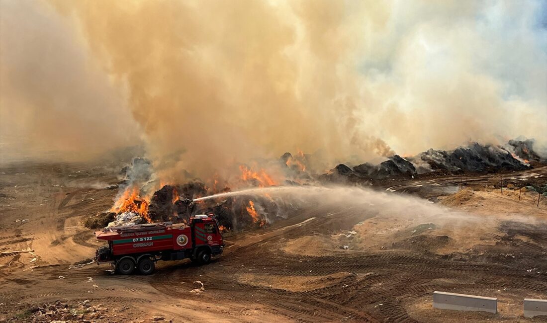
[[[547,162],[541,157],[547,154],[534,151],[533,143],[533,140],[510,140],[503,147],[471,143],[451,151],[429,149],[414,157],[393,155],[378,165],[363,163],[351,167],[339,164],[324,174],[313,171],[318,168],[313,164],[313,155],[299,151],[293,156],[286,152],[278,160],[266,161],[267,169],[276,170],[273,173],[257,166],[240,165],[240,177],[231,180],[230,184],[218,179],[206,181],[207,184],[199,179],[185,184],[161,183],[154,179],[148,160],[135,158],[120,173],[123,181],[112,208],[90,216],[85,225],[103,228],[164,221],[177,223],[185,222],[195,214],[212,212],[225,229],[262,227],[278,218],[286,218],[310,202],[296,201],[296,197],[291,196],[274,199],[267,190],[235,194],[232,189],[330,183],[370,185],[392,178],[416,178],[425,173],[521,171],[532,168],[531,162],[538,165]],[[188,208],[187,199],[194,200],[193,208]]]

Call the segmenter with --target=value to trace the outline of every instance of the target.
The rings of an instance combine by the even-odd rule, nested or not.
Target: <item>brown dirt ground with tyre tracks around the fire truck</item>
[[[86,265],[101,245],[82,220],[108,209],[119,168],[19,164],[0,169],[0,319],[138,322],[544,322],[523,298],[547,298],[547,167],[439,177],[375,189],[446,210],[375,215],[317,205],[226,237],[207,266],[159,262],[150,276]],[[495,187],[498,185],[497,187]],[[75,267],[75,268],[73,268]],[[205,290],[191,292],[201,281]],[[497,297],[498,314],[432,308],[433,291]],[[37,307],[57,302],[56,314]],[[65,309],[61,309],[65,308]]]

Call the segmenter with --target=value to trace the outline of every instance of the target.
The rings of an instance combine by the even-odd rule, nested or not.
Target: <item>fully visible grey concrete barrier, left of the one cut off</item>
[[[433,292],[433,307],[438,309],[484,311],[496,314],[498,299],[474,295]]]

